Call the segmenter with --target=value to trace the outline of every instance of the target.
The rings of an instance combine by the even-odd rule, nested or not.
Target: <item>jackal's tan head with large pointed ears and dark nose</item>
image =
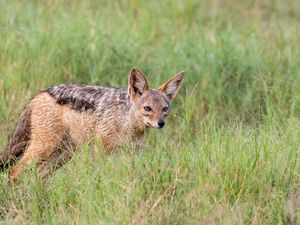
[[[139,69],[132,68],[128,78],[128,94],[136,117],[146,126],[163,128],[183,77],[184,72],[179,72],[159,88],[151,89],[146,76]]]

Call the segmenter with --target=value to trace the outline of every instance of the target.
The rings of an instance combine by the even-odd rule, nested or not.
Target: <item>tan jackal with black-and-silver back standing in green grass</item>
[[[0,153],[0,168],[16,180],[25,166],[37,163],[42,178],[72,158],[74,146],[96,138],[105,151],[138,143],[149,128],[161,129],[181,87],[181,71],[152,89],[133,67],[127,88],[60,84],[39,91],[25,106]]]

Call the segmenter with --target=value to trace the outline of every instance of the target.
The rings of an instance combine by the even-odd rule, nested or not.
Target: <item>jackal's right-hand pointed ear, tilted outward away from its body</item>
[[[170,101],[172,101],[175,98],[175,96],[182,84],[183,77],[184,77],[184,71],[181,71],[181,72],[177,73],[175,76],[173,76],[171,79],[166,81],[164,84],[162,84],[158,88],[158,90],[165,93],[167,95],[168,99]]]

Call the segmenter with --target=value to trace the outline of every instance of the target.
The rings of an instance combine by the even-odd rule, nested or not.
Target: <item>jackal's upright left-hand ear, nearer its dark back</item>
[[[149,82],[146,76],[138,68],[133,67],[128,78],[128,94],[135,101],[145,91],[149,90]]]

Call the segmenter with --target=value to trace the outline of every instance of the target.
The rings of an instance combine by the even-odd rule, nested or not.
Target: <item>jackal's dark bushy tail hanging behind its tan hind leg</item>
[[[0,170],[15,164],[23,155],[30,139],[30,118],[31,110],[30,107],[27,106],[22,112],[16,128],[9,138],[7,146],[0,152]]]

